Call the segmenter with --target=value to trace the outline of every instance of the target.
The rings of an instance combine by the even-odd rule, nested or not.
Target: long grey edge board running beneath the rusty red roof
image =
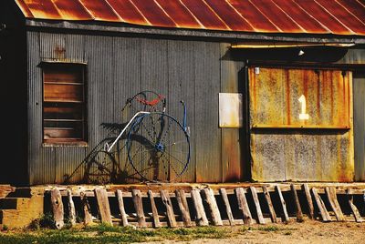
[[[134,34],[147,36],[182,36],[196,38],[229,39],[232,41],[281,41],[281,42],[307,42],[307,43],[349,43],[356,45],[365,44],[365,36],[343,36],[332,34],[283,34],[283,33],[242,33],[213,30],[176,29],[141,25],[110,25],[110,22],[88,21],[50,21],[26,19],[29,28],[64,29],[74,31],[98,31],[102,33]]]

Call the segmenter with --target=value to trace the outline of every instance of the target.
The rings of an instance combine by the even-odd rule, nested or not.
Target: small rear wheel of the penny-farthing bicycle
[[[108,184],[117,175],[115,158],[107,151],[100,150],[93,155],[87,165],[86,177],[89,184]]]

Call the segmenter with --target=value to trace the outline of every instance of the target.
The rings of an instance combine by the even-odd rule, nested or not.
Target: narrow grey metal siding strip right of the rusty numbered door
[[[355,180],[365,181],[365,73],[354,75]]]

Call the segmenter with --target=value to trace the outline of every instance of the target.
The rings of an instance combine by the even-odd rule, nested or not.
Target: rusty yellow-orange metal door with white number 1
[[[251,67],[250,154],[257,181],[352,181],[352,73]]]

